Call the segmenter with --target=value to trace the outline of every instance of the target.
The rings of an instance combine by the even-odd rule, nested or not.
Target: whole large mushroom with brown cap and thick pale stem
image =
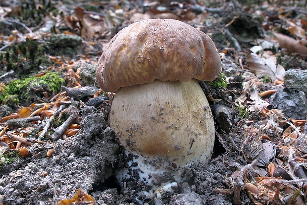
[[[106,45],[96,73],[103,91],[116,92],[109,124],[145,183],[182,182],[184,167],[208,163],[215,129],[198,81],[219,70],[210,37],[178,20],[135,22]]]

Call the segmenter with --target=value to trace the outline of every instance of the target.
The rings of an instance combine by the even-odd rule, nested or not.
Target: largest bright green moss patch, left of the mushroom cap
[[[21,101],[32,102],[43,93],[49,96],[57,93],[64,80],[57,73],[46,73],[43,76],[14,80],[0,90],[0,100],[5,104],[16,104]]]

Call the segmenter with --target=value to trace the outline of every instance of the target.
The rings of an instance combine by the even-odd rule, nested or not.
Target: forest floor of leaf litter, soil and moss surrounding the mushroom
[[[0,205],[306,204],[306,1],[244,2],[0,2]],[[225,59],[224,75],[200,82],[212,159],[145,199],[140,181],[114,177],[126,155],[96,68],[116,33],[151,18],[205,32]]]

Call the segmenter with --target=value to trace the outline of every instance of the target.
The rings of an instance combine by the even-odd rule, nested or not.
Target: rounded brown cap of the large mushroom
[[[212,81],[220,57],[205,33],[173,19],[139,21],[122,29],[106,45],[97,80],[103,91],[162,81]]]

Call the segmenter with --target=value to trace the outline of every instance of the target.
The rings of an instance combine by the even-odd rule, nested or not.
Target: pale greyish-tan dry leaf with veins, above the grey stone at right
[[[267,58],[259,57],[256,53],[251,53],[247,58],[249,69],[257,76],[266,75],[273,81],[283,81],[285,68],[277,63],[277,57],[269,56]]]

